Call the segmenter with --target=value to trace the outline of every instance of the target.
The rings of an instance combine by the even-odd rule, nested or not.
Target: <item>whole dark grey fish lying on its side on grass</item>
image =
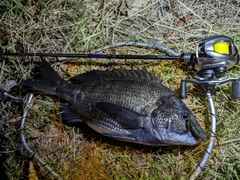
[[[67,82],[42,60],[26,86],[63,98],[64,123],[84,122],[103,136],[149,146],[193,146],[206,140],[198,121],[146,68],[92,70]]]

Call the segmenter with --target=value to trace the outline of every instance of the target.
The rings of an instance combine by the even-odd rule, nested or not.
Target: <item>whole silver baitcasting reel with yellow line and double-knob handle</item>
[[[183,56],[184,57],[184,56]],[[187,83],[202,85],[214,94],[214,87],[232,81],[232,98],[240,98],[240,79],[223,77],[225,72],[239,62],[239,54],[233,39],[227,36],[211,36],[196,45],[195,54],[184,59],[197,70],[195,80],[181,81],[180,98],[187,98]]]

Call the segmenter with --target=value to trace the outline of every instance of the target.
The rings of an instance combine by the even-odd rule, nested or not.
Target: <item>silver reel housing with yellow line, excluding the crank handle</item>
[[[195,56],[193,68],[206,78],[212,75],[222,76],[239,62],[234,41],[227,36],[211,36],[201,40],[196,45]]]

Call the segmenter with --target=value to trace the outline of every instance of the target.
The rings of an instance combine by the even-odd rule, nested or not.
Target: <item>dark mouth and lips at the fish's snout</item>
[[[187,123],[189,123],[188,129],[190,130],[194,137],[202,141],[205,141],[207,139],[207,135],[205,134],[204,130],[199,125],[198,121],[196,120],[193,114],[189,114],[189,120]]]

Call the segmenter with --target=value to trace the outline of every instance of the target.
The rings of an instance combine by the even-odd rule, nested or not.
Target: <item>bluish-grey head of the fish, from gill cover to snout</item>
[[[176,95],[163,96],[151,114],[156,137],[163,144],[196,145],[206,134],[187,106]]]

